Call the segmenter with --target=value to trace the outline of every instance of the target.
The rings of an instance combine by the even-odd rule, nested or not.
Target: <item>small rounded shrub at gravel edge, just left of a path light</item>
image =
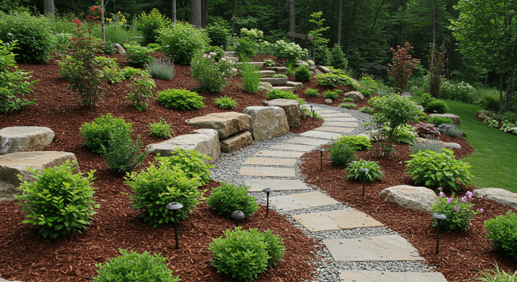
[[[235,183],[221,182],[221,186],[212,189],[212,194],[207,199],[208,206],[212,207],[218,215],[230,218],[232,213],[239,210],[246,216],[254,214],[258,210],[255,197],[248,194],[251,186],[235,186]]]

